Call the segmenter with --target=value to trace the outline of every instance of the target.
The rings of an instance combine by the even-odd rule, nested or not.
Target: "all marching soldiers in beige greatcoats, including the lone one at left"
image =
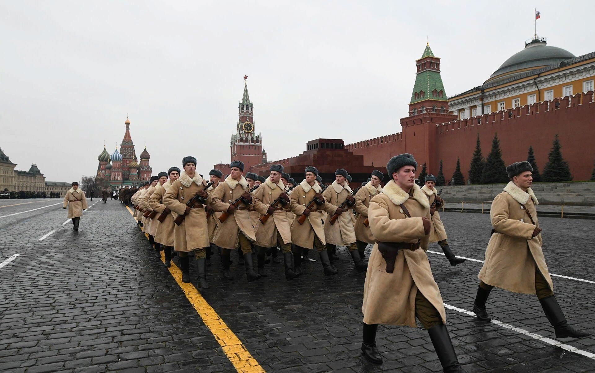
[[[287,280],[301,276],[300,265],[308,252],[320,255],[322,273],[338,273],[333,265],[336,247],[345,246],[355,273],[365,274],[364,314],[361,350],[365,358],[382,363],[375,344],[378,324],[416,327],[415,318],[428,331],[444,372],[463,372],[446,328],[446,312],[440,289],[426,255],[428,245],[437,242],[450,265],[465,260],[455,257],[447,242],[438,209],[444,204],[434,184],[415,184],[417,162],[411,154],[399,154],[387,164],[391,179],[381,187],[383,173],[374,170],[368,182],[352,191],[350,175],[337,169],[330,185],[322,183],[318,169],[306,167],[303,181],[272,165],[266,179],[254,173],[243,176],[244,165],[234,161],[223,181],[219,170],[209,172],[207,181],[196,172],[196,159],[184,157],[183,170],[153,176],[131,195],[123,189],[120,199],[133,204],[137,225],[149,235],[151,247],[165,266],[173,253],[179,257],[183,282],[190,282],[189,260],[196,260],[198,285],[209,289],[206,280],[211,255],[220,257],[224,279],[233,280],[231,254],[238,250],[246,269],[246,281],[267,276],[267,256],[280,248]],[[589,334],[571,327],[556,301],[553,282],[541,250],[541,228],[533,190],[533,168],[528,162],[506,167],[511,180],[494,198],[490,217],[493,230],[486,248],[486,261],[473,311],[477,320],[489,323],[486,309],[494,287],[515,293],[536,294],[547,320],[558,338],[583,338]],[[64,199],[68,217],[78,230],[84,193],[73,183]],[[374,245],[364,261],[368,244]],[[192,253],[192,254],[191,254]],[[252,261],[256,254],[256,268]],[[363,275],[362,275],[363,276]]]

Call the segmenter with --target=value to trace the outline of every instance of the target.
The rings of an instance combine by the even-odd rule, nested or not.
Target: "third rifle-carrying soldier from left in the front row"
[[[272,165],[270,167],[270,176],[265,180],[264,184],[256,189],[253,206],[254,210],[259,215],[267,215],[268,220],[262,224],[256,220],[256,245],[258,245],[258,273],[265,277],[267,274],[264,271],[265,251],[266,248],[277,248],[277,244],[281,246],[283,252],[283,260],[285,263],[285,279],[293,280],[297,274],[293,272],[292,268],[292,236],[289,217],[284,208],[289,208],[289,196],[284,192],[283,182],[281,182],[281,173],[283,173],[283,166]],[[277,198],[281,201],[275,206],[271,206]],[[286,206],[286,207],[284,207]]]

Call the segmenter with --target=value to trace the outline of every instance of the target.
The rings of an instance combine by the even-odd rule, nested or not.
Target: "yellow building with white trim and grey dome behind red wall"
[[[449,108],[465,119],[592,91],[594,82],[595,52],[577,57],[536,36],[483,85],[449,97]]]

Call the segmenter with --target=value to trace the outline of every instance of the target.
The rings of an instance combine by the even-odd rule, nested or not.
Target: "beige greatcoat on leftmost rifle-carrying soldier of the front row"
[[[206,181],[198,172],[193,179],[182,171],[180,178],[171,184],[163,196],[163,204],[176,214],[184,214],[186,203],[206,187]],[[207,193],[208,194],[208,193]],[[211,203],[208,195],[206,204]],[[190,208],[180,226],[174,223],[174,250],[193,251],[209,246],[209,232],[204,208]]]

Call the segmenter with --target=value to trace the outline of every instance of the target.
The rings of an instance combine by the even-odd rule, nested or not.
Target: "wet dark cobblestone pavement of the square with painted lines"
[[[0,268],[0,371],[236,370],[229,346],[222,347],[214,335],[220,333],[205,325],[189,292],[149,251],[122,204],[94,198],[80,232],[73,232],[61,205],[29,211],[58,202],[0,204],[0,263],[19,254]],[[428,252],[465,371],[595,371],[595,339],[553,346],[558,342],[536,296],[494,289],[488,311],[505,325],[464,313],[477,290],[489,216],[441,216],[455,254],[478,260],[450,267],[437,244]],[[575,278],[553,277],[560,305],[569,323],[594,333],[593,223],[547,217],[540,223],[550,273]],[[338,251],[337,276],[322,276],[320,261],[311,261],[302,266],[302,277],[287,282],[283,264],[270,264],[269,276],[252,283],[235,253],[235,280],[224,281],[215,254],[208,268],[211,288],[201,295],[258,362],[253,371],[441,371],[421,325],[381,325],[377,343],[385,362],[377,366],[361,357],[364,274],[353,270],[345,248]],[[193,264],[190,275],[196,279]]]

